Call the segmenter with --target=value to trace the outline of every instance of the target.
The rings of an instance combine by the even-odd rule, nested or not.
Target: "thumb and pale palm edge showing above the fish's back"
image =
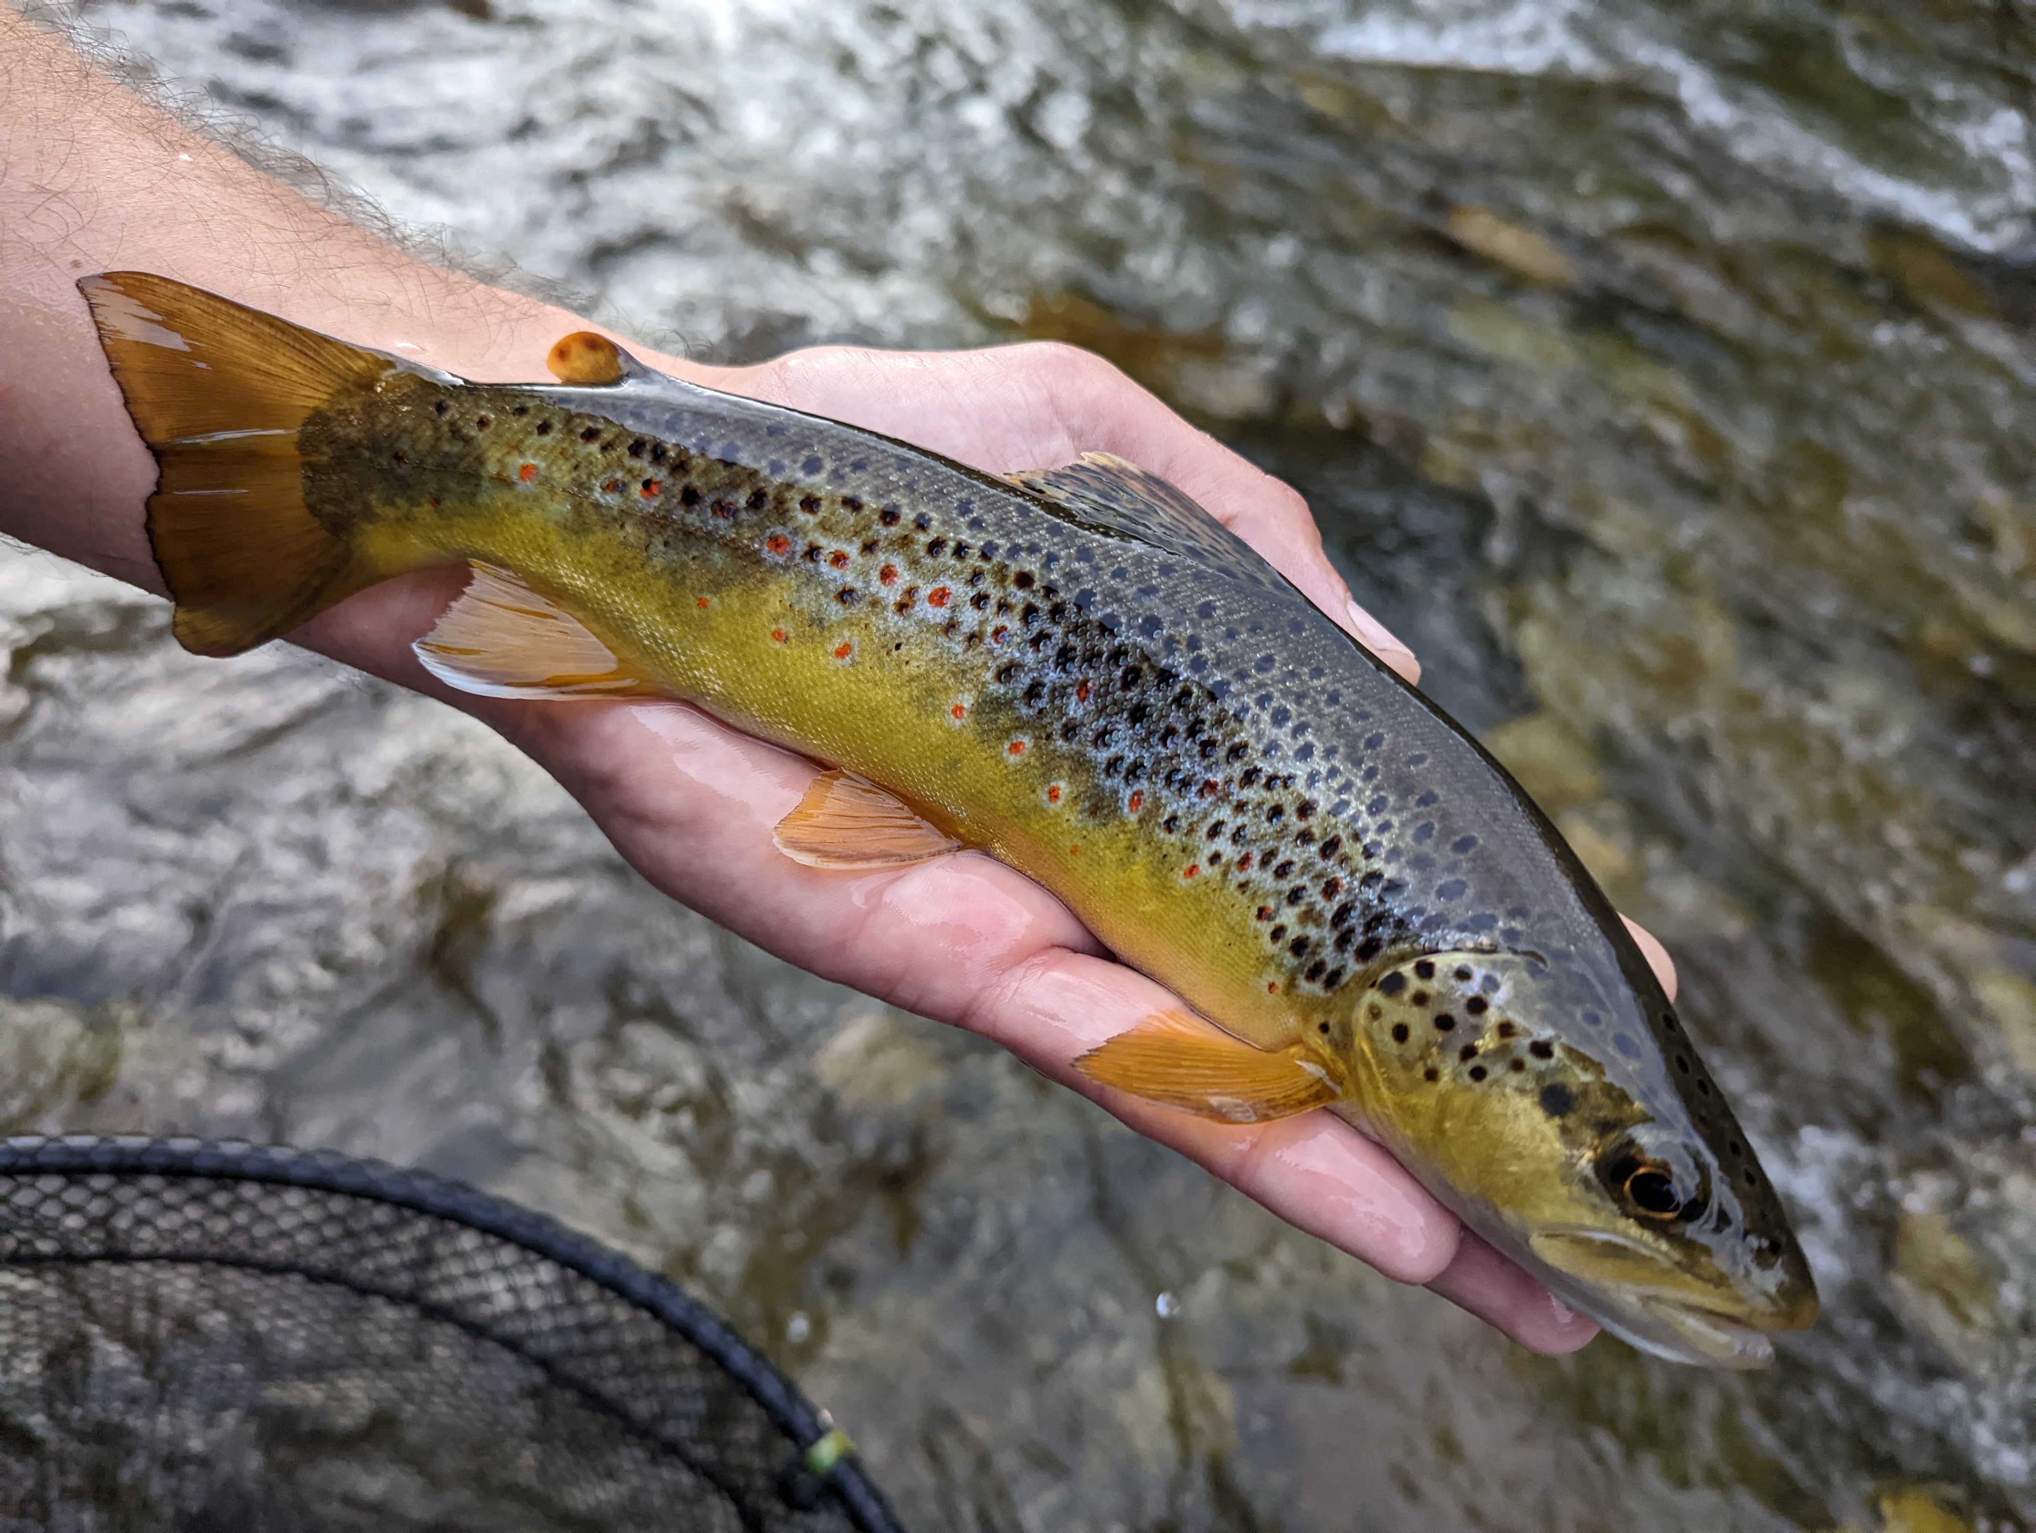
[[[1358,607],[1307,501],[1199,432],[1091,352],[1053,342],[983,352],[823,346],[731,373],[723,387],[916,442],[992,474],[1114,452],[1199,501],[1409,682],[1421,666]]]

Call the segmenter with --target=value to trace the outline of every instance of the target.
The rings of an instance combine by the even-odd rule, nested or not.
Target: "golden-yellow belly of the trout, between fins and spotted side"
[[[1114,953],[1218,1024],[1287,1042],[1321,1010],[1319,998],[1291,993],[1256,912],[1201,849],[1163,835],[1152,806],[1132,810],[1116,790],[1116,812],[1083,812],[1091,763],[1044,721],[1014,727],[1008,713],[977,706],[996,658],[951,649],[932,625],[890,623],[871,601],[829,611],[812,582],[727,550],[647,566],[621,540],[544,515],[462,525],[458,554],[552,594],[666,694],[892,790],[1049,888]]]

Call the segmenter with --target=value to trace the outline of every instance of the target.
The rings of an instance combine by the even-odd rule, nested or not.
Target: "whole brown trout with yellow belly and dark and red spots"
[[[1230,1124],[1325,1108],[1641,1352],[1816,1317],[1782,1201],[1633,936],[1464,729],[1179,489],[1006,476],[576,332],[468,383],[149,273],[79,283],[155,454],[183,647],[468,564],[417,660],[684,698],[825,770],[816,869],[973,847],[1181,1000],[1077,1061]]]

